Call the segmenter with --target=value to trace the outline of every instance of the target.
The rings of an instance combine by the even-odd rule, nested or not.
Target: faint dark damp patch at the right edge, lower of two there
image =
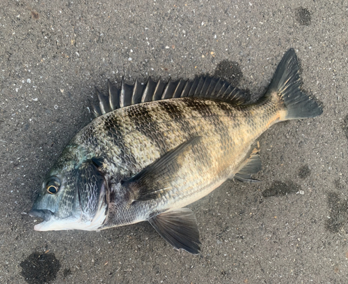
[[[326,230],[332,233],[340,232],[340,229],[348,219],[348,201],[342,200],[338,193],[330,191],[328,194],[328,205],[330,218],[326,220]]]

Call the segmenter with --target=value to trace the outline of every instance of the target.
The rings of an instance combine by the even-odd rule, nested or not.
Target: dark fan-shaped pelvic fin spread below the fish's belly
[[[164,212],[149,219],[155,230],[174,248],[200,253],[196,217],[189,208]]]

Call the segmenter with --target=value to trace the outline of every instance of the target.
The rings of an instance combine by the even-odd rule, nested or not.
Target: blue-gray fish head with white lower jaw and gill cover
[[[98,230],[107,211],[104,174],[93,160],[77,163],[62,156],[42,182],[29,212],[43,219],[34,230]]]

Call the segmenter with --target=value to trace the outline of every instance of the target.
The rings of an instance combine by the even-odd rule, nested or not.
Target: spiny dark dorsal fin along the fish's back
[[[99,104],[92,104],[93,114],[99,117],[107,112],[112,112],[120,107],[146,103],[155,100],[166,100],[169,98],[184,98],[187,96],[199,98],[214,98],[223,100],[233,105],[242,105],[248,97],[240,89],[232,87],[226,81],[217,77],[200,76],[193,81],[177,80],[168,82],[156,82],[151,77],[145,84],[136,79],[134,84],[126,84],[122,78],[120,89],[108,81],[109,92],[106,96],[96,89]]]

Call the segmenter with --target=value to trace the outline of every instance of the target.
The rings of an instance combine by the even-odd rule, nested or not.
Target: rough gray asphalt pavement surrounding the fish
[[[1,1],[0,283],[348,283],[347,9],[347,0]],[[229,60],[230,79],[257,98],[290,47],[324,113],[260,137],[262,184],[228,181],[191,205],[200,255],[174,251],[148,223],[33,230],[35,190],[92,119],[95,86],[214,74]]]

